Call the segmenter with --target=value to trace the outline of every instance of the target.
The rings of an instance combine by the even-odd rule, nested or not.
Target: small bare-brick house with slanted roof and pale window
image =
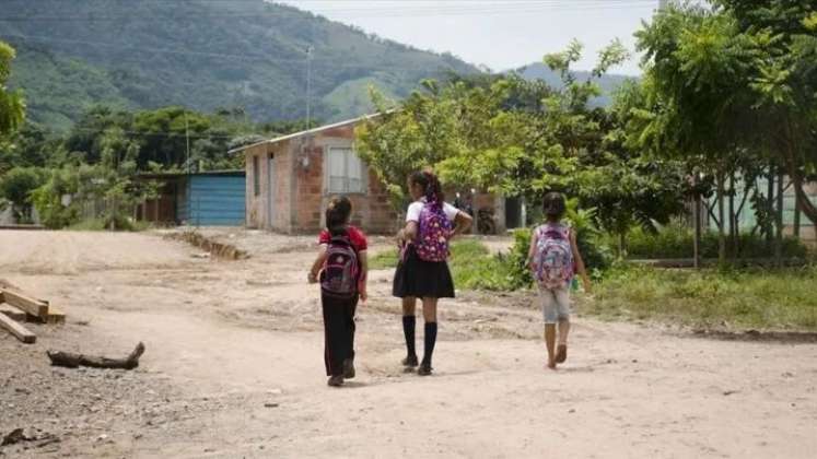
[[[394,232],[400,222],[386,188],[354,151],[354,128],[365,119],[350,119],[231,150],[245,157],[247,227],[315,233],[324,226],[329,198],[343,195],[352,201],[354,225],[373,234]],[[495,227],[504,231],[504,199],[478,193],[474,203],[493,209]]]

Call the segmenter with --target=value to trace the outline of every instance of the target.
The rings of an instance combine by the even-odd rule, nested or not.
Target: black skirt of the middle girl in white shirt
[[[392,294],[398,298],[453,298],[454,280],[445,261],[423,261],[413,246],[397,264]]]

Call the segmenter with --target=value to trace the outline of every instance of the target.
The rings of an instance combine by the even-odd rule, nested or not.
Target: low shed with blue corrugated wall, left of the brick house
[[[137,220],[160,225],[243,226],[244,170],[194,174],[142,174],[141,180],[160,183],[160,196],[137,209]]]

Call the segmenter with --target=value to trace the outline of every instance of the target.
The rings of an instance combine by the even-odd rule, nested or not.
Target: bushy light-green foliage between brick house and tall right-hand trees
[[[586,80],[570,66],[581,57],[573,42],[545,62],[562,75],[547,87],[516,75],[453,76],[425,82],[394,111],[375,93],[383,113],[359,130],[358,150],[387,184],[393,203],[406,201],[406,176],[432,166],[444,184],[479,188],[538,202],[551,190],[595,208],[593,220],[623,233],[653,227],[682,212],[686,178],[679,162],[652,157],[630,138],[628,126],[644,95],[632,84],[610,109],[593,108],[597,79],[627,52],[614,42]],[[602,261],[600,258],[596,261]]]

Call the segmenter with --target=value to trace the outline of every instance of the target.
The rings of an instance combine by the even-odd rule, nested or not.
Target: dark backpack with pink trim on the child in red
[[[335,236],[326,248],[320,290],[330,296],[351,298],[358,294],[360,264],[348,236]]]

